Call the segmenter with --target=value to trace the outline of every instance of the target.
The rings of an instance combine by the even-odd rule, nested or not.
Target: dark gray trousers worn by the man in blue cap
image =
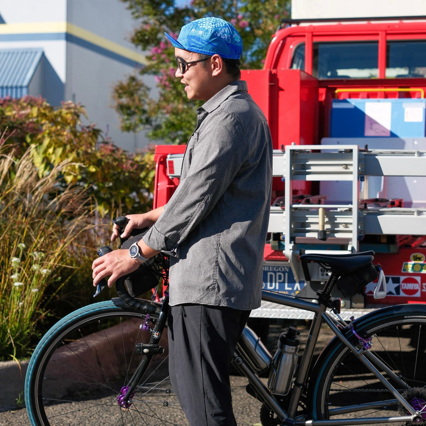
[[[235,426],[229,367],[250,311],[220,306],[171,306],[169,371],[191,426]]]

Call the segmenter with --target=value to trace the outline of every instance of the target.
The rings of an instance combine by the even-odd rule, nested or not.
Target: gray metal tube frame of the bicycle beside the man
[[[335,280],[333,279],[333,275],[328,280],[325,288],[325,295],[330,294],[332,288],[334,287]],[[325,303],[316,303],[309,302],[303,299],[297,298],[297,296],[289,296],[287,294],[279,294],[273,293],[270,291],[262,291],[262,300],[267,302],[277,303],[279,305],[286,305],[291,308],[298,308],[304,311],[309,311],[314,313],[314,318],[312,320],[311,328],[308,334],[308,340],[305,345],[305,350],[303,352],[303,356],[297,368],[297,373],[294,378],[294,387],[292,389],[292,393],[289,399],[288,410],[284,411],[282,407],[279,405],[275,397],[271,394],[268,387],[259,379],[257,374],[253,372],[253,370],[248,365],[247,361],[244,359],[242,353],[236,349],[234,353],[233,363],[236,365],[236,368],[247,377],[251,386],[253,386],[256,393],[262,398],[263,402],[273,411],[281,422],[284,422],[287,419],[291,423],[298,426],[328,426],[328,425],[356,425],[356,424],[377,424],[378,422],[408,422],[414,421],[416,417],[416,412],[412,406],[410,406],[406,400],[400,395],[400,393],[394,389],[393,386],[386,380],[385,377],[375,368],[374,363],[377,366],[383,368],[387,374],[389,374],[394,380],[396,380],[403,389],[409,389],[407,383],[403,380],[400,380],[396,374],[393,373],[387,366],[384,366],[383,363],[371,354],[368,351],[368,348],[358,349],[354,344],[352,344],[344,335],[344,333],[337,327],[337,320],[334,320],[326,311],[327,306]],[[306,386],[306,380],[308,378],[309,368],[311,365],[311,360],[314,354],[314,348],[317,343],[317,338],[320,334],[320,328],[322,322],[325,322],[334,334],[363,362],[366,367],[377,377],[378,380],[383,384],[383,386],[388,389],[391,394],[395,397],[395,399],[405,407],[408,413],[411,415],[406,416],[395,416],[395,417],[382,417],[382,418],[363,418],[363,419],[334,419],[334,420],[297,420],[295,418],[297,407],[299,405],[299,401],[302,395],[302,390]],[[343,322],[343,320],[342,320]],[[345,324],[346,325],[346,324]],[[355,334],[355,333],[354,333]],[[356,335],[356,334],[355,334]],[[377,403],[376,403],[377,404]],[[372,404],[371,406],[374,406]],[[350,412],[350,407],[346,407],[345,411],[337,412],[334,414],[343,414],[344,412]]]

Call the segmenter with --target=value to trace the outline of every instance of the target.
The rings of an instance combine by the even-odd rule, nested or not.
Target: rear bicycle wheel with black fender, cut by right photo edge
[[[416,411],[421,410],[420,423],[426,424],[426,306],[400,305],[383,308],[354,322],[357,334],[364,340],[371,337],[376,357],[408,386],[402,386],[376,368],[397,389]],[[346,336],[361,347],[358,337]],[[389,392],[374,374],[340,340],[335,338],[323,351],[309,388],[310,405],[315,420],[354,419],[406,416],[408,410]],[[358,424],[358,423],[357,423]],[[361,424],[361,423],[360,423]]]

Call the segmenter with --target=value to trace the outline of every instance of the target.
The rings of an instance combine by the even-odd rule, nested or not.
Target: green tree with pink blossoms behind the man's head
[[[178,7],[174,0],[121,0],[139,27],[132,42],[149,52],[148,65],[121,81],[114,90],[116,110],[125,131],[150,129],[149,137],[170,143],[186,143],[195,124],[199,102],[188,101],[176,79],[174,48],[164,32],[178,36],[181,27],[206,16],[221,17],[240,32],[244,52],[242,69],[259,69],[280,21],[288,17],[289,0],[192,0]],[[150,98],[144,77],[154,75],[158,98]]]

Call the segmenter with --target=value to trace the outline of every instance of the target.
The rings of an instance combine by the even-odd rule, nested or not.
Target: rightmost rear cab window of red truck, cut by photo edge
[[[426,40],[388,41],[386,78],[426,77]]]

